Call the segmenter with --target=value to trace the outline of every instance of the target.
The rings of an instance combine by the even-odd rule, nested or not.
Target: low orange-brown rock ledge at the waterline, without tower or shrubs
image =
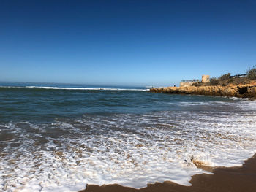
[[[256,99],[256,82],[244,85],[227,86],[189,86],[189,87],[167,87],[151,88],[150,92],[170,94],[195,94],[203,96],[234,96],[238,98]]]

